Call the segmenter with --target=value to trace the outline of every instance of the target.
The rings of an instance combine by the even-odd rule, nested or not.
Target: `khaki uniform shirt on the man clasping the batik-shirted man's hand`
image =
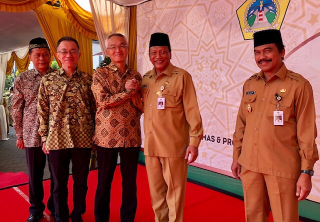
[[[157,92],[163,86],[164,109],[157,109]],[[203,137],[195,89],[188,72],[171,63],[163,74],[154,68],[142,78],[144,155],[184,157],[188,145],[198,147]]]

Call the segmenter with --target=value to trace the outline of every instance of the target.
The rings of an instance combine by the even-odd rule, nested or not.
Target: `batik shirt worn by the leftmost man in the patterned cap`
[[[55,71],[49,68],[46,73]],[[20,73],[14,81],[11,116],[16,138],[23,139],[25,147],[42,146],[38,133],[37,102],[42,75],[36,69]]]

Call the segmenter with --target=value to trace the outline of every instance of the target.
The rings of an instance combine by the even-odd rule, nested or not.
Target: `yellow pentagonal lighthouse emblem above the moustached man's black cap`
[[[265,29],[280,29],[290,0],[246,0],[237,10],[244,39]]]

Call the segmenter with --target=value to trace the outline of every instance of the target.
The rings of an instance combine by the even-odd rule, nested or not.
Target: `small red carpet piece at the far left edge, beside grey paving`
[[[28,183],[28,175],[26,175],[24,172],[18,172],[18,173],[0,172],[0,178],[1,178],[0,189]]]

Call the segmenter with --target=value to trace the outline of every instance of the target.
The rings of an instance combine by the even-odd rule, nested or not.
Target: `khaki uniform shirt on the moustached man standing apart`
[[[297,179],[300,170],[312,170],[318,160],[312,88],[284,64],[269,81],[263,77],[260,71],[244,83],[233,159],[253,172]],[[281,96],[283,126],[273,125],[275,93]]]

